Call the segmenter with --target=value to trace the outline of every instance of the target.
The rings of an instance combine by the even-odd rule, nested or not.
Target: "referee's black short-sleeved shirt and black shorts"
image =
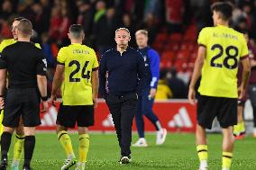
[[[6,47],[0,58],[0,69],[7,69],[8,90],[3,125],[15,128],[20,116],[24,127],[36,127],[40,121],[40,95],[37,75],[46,75],[41,49],[32,42],[17,41]]]

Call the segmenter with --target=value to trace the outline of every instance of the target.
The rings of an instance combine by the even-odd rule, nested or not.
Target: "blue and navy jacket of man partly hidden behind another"
[[[160,76],[160,57],[158,52],[151,49],[149,46],[138,50],[142,52],[145,67],[148,72],[145,82],[146,87],[157,88]]]

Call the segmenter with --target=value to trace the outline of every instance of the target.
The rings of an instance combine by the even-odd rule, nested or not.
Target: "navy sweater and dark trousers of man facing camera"
[[[107,89],[106,85],[107,77]],[[107,50],[99,65],[99,94],[112,114],[122,157],[130,157],[133,117],[137,112],[138,94],[144,88],[146,78],[142,54],[128,47],[121,53]]]

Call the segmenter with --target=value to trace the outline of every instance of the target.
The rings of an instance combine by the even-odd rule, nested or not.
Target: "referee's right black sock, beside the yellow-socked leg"
[[[26,167],[30,167],[34,146],[35,137],[26,136],[24,141],[24,166]]]

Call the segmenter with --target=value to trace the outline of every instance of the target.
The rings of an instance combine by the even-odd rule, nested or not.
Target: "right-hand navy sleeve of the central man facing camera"
[[[142,94],[143,88],[145,88],[146,84],[146,77],[147,77],[147,72],[146,72],[146,67],[145,67],[145,62],[142,57],[142,53],[138,51],[138,86],[137,86],[137,94]]]

